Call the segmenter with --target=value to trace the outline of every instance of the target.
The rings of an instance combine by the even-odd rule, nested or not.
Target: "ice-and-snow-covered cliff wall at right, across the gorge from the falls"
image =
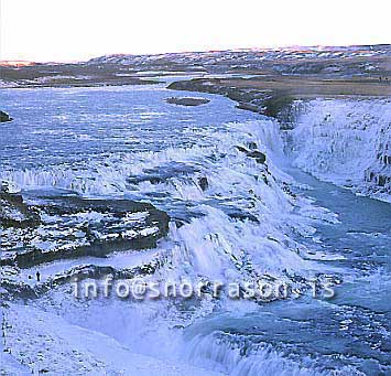
[[[297,101],[286,131],[293,164],[321,180],[391,200],[391,100]],[[385,184],[382,184],[384,176]]]

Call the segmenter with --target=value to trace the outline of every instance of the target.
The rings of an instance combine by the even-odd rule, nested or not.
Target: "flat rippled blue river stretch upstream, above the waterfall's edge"
[[[175,95],[184,93],[160,85],[2,90],[1,105],[15,120],[1,125],[1,166],[85,166],[121,153],[187,147],[195,142],[194,127],[217,128],[256,118],[236,110],[224,97],[214,97],[206,107],[164,101]]]

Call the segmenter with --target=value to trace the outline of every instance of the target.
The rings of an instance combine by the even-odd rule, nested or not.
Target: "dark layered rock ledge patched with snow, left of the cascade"
[[[154,248],[169,232],[169,215],[149,203],[50,196],[26,204],[4,191],[0,198],[1,266]]]

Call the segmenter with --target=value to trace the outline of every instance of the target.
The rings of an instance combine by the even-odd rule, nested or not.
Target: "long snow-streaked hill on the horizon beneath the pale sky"
[[[155,55],[105,55],[91,58],[88,65],[126,65],[144,71],[145,67],[172,69],[206,69],[227,72],[229,69],[271,68],[280,73],[340,73],[340,63],[356,57],[391,56],[391,45],[344,46],[344,47],[283,47],[259,50],[230,50],[210,52],[184,52]],[[334,62],[323,66],[324,62]],[[294,63],[291,66],[291,62]],[[303,66],[301,64],[304,64]],[[350,63],[349,63],[350,65]],[[377,72],[381,67],[373,63],[358,62],[349,66],[354,74]]]

